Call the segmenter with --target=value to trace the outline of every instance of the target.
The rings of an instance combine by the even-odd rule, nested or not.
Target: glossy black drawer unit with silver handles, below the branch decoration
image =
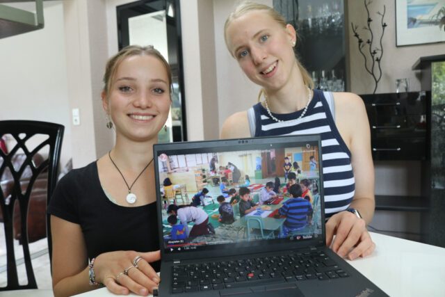
[[[371,128],[373,159],[426,159],[426,92],[360,95]]]

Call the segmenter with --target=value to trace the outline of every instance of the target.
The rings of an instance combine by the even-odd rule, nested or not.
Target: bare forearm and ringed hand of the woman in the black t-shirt
[[[62,218],[51,216],[52,234],[52,277],[54,296],[73,296],[97,286],[89,283],[86,243],[81,227]],[[138,262],[138,268],[129,270],[128,275],[116,282],[116,276],[132,266],[133,259],[140,255],[145,261]],[[158,252],[116,251],[96,257],[95,280],[104,284],[114,294],[147,295],[158,287],[159,277],[148,264],[161,258]],[[131,271],[131,273],[130,273]],[[138,280],[137,282],[135,280]]]

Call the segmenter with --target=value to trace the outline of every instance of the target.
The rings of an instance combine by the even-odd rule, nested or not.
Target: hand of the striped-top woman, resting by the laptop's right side
[[[375,249],[365,221],[349,211],[341,211],[327,220],[326,245],[340,257],[350,260],[371,255]]]

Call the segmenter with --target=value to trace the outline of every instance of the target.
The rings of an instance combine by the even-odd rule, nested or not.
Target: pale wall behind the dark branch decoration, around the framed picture
[[[350,23],[359,26],[359,34],[366,40],[369,35],[362,30],[366,26],[366,10],[363,1],[347,0],[348,2],[348,29]],[[421,56],[434,56],[444,54],[444,43],[412,45],[405,47],[396,47],[396,1],[378,0],[371,1],[369,5],[371,19],[371,29],[373,29],[374,38],[380,38],[382,29],[380,26],[380,15],[377,12],[383,12],[383,6],[386,6],[385,22],[387,27],[383,35],[383,57],[382,57],[382,79],[378,83],[376,93],[394,93],[396,92],[396,79],[407,78],[410,81],[410,90],[420,90],[419,73],[412,71],[411,67]],[[364,69],[364,58],[359,53],[357,39],[353,37],[353,32],[349,32],[349,52],[350,52],[350,86],[351,91],[357,94],[373,93],[374,83],[370,74]],[[378,45],[375,44],[375,45]]]

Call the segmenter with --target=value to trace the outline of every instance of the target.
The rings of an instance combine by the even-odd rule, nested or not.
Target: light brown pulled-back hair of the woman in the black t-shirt
[[[161,61],[161,63],[163,63],[165,67],[165,70],[167,71],[170,94],[172,93],[172,72],[170,70],[170,65],[168,65],[167,61],[165,61],[165,58],[161,55],[161,53],[152,45],[147,45],[146,47],[141,47],[140,45],[129,45],[128,47],[124,47],[123,49],[121,49],[118,54],[115,54],[106,62],[103,79],[103,91],[104,93],[106,93],[107,96],[110,93],[111,80],[113,79],[116,70],[118,70],[120,63],[122,63],[122,61],[124,61],[124,59],[128,58],[129,56],[154,56],[154,58],[157,58],[159,61]]]

